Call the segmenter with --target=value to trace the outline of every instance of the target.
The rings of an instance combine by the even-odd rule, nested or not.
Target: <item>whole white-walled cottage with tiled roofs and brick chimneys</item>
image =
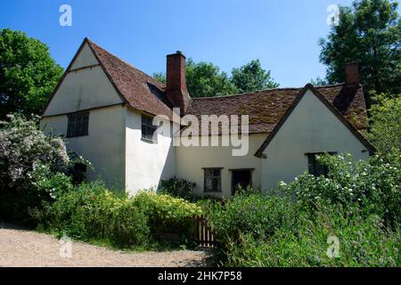
[[[164,85],[86,38],[45,107],[41,124],[65,135],[68,147],[93,163],[88,180],[102,178],[130,193],[157,187],[161,179],[173,176],[196,183],[193,191],[199,195],[229,197],[238,184],[268,191],[305,171],[323,173],[316,154],[349,152],[366,159],[372,153],[361,134],[368,122],[357,65],[349,64],[345,72],[347,82],[339,85],[191,98],[184,54],[167,56]],[[246,152],[233,155],[239,146],[232,143],[174,143],[191,127],[174,118],[188,115],[243,116],[246,132],[201,130],[191,138],[222,142],[225,136],[239,135],[246,139]],[[162,129],[157,133],[155,116]]]

